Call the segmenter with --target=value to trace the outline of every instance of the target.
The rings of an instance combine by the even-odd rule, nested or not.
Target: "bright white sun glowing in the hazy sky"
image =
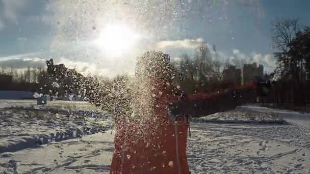
[[[117,57],[129,52],[140,36],[125,24],[107,24],[96,40],[108,56]]]

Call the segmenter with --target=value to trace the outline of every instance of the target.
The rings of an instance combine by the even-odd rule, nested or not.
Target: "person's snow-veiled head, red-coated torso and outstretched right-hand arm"
[[[186,155],[189,115],[230,110],[239,103],[236,89],[186,95],[176,79],[165,54],[150,51],[138,58],[131,102],[126,112],[120,112],[125,114],[116,114],[110,173],[190,173]],[[253,84],[237,92],[247,95],[254,91]],[[253,93],[248,95],[253,97]]]

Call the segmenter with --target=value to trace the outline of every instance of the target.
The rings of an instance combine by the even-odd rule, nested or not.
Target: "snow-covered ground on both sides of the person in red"
[[[3,151],[0,173],[109,173],[114,131],[79,134],[85,134],[85,126],[111,126],[111,120],[94,117],[98,112],[83,112],[88,119],[77,121],[81,113],[70,115],[70,111],[94,109],[85,102],[57,101],[42,107],[35,103],[35,100],[0,100],[0,151]],[[11,106],[15,107],[4,109]],[[288,124],[267,123],[282,119]],[[68,127],[72,128],[71,133],[59,133],[66,133]],[[53,136],[53,131],[58,134]],[[310,172],[310,114],[241,106],[195,120],[191,133],[187,153],[192,173]],[[41,144],[28,149],[21,147],[31,142],[25,137],[33,140],[38,134]],[[17,142],[21,142],[20,146],[10,152],[1,148],[1,144],[7,148]],[[35,142],[38,143],[36,139]]]

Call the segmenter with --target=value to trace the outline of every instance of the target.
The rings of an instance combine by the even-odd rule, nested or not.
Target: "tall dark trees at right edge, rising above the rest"
[[[271,22],[274,56],[277,68],[272,76],[272,93],[264,102],[293,103],[305,106],[309,100],[310,26],[301,26],[298,19],[276,19]]]

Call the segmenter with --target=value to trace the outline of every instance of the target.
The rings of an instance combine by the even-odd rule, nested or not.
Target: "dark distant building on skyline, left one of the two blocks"
[[[227,69],[224,69],[223,80],[241,85],[241,69],[236,69],[236,66],[229,66]]]

